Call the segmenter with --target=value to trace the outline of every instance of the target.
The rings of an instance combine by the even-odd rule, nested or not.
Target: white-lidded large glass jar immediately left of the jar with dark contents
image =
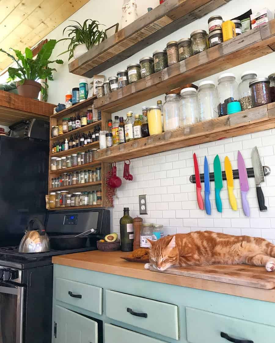
[[[218,117],[218,92],[213,81],[200,82],[198,88],[199,120]]]

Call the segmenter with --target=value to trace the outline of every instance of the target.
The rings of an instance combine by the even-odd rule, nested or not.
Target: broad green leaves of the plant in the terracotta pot
[[[33,58],[33,53],[30,48],[25,48],[25,56],[20,50],[12,49],[15,52],[17,59],[9,54],[9,52],[0,49],[1,52],[8,55],[14,62],[16,62],[18,68],[9,67],[9,81],[15,79],[20,80],[20,84],[24,84],[25,80],[37,81],[39,79],[48,79],[53,80],[53,71],[56,71],[55,68],[48,67],[50,63],[62,64],[62,60],[50,61],[49,58],[53,52],[54,47],[56,46],[56,40],[50,39],[47,43],[43,45],[41,50],[38,52],[36,58]],[[44,86],[41,87],[41,92],[43,94],[43,100],[47,100],[48,96],[48,87],[47,82],[43,81]]]

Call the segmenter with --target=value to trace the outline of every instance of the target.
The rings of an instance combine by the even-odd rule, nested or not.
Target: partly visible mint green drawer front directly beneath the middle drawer
[[[126,330],[111,324],[104,324],[105,343],[160,343],[155,338],[142,335],[134,331]]]

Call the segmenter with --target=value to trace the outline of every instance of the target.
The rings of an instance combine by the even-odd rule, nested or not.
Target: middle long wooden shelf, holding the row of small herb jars
[[[275,20],[123,87],[94,105],[114,113],[275,51]]]

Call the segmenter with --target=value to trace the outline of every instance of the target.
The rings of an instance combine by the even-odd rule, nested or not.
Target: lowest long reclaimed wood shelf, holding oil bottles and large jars
[[[98,150],[95,158],[101,162],[124,161],[272,128],[275,128],[275,103]]]

